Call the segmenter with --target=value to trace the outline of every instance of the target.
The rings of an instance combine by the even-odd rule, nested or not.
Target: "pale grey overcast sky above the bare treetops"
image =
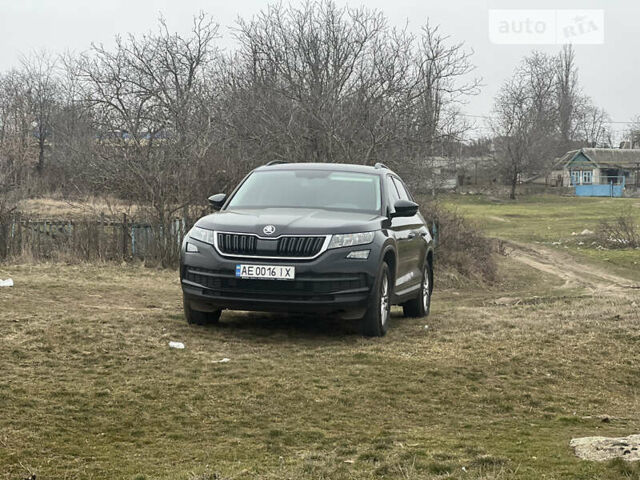
[[[299,3],[292,0],[293,4]],[[520,58],[532,48],[555,52],[559,46],[497,45],[489,40],[492,9],[603,9],[604,43],[576,46],[585,93],[616,122],[640,115],[640,2],[638,0],[337,0],[382,10],[394,25],[418,30],[427,19],[475,54],[475,74],[484,87],[464,107],[470,115],[488,115],[493,96]],[[210,13],[223,27],[220,43],[232,48],[228,27],[265,8],[258,0],[0,0],[0,70],[15,66],[33,49],[83,51],[91,42],[109,45],[116,34],[155,28],[162,14],[172,30],[187,32],[194,14]],[[477,120],[482,123],[482,120]],[[625,124],[614,124],[622,131]],[[481,127],[478,127],[481,131]]]

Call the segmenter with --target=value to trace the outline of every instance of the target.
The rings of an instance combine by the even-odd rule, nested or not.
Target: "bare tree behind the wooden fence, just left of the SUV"
[[[194,202],[212,145],[210,69],[218,26],[204,14],[188,37],[158,32],[94,45],[72,63],[96,132],[87,179],[149,205],[159,225]],[[170,248],[171,246],[168,246]]]

